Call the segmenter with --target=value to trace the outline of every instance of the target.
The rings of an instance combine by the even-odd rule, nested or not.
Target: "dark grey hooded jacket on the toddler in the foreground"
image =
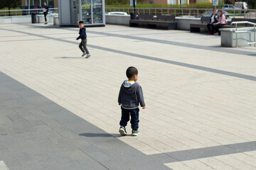
[[[118,103],[121,103],[123,108],[128,109],[137,108],[139,103],[140,106],[144,107],[142,87],[137,82],[130,84],[129,81],[124,81],[119,91]]]

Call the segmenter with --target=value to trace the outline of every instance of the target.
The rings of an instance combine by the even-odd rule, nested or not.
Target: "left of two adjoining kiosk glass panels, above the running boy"
[[[82,21],[85,24],[92,23],[91,0],[82,0]]]

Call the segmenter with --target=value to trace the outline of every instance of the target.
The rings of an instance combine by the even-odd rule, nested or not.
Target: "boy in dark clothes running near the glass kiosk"
[[[79,26],[80,30],[79,30],[79,36],[78,36],[77,40],[81,39],[79,47],[80,47],[80,50],[82,51],[82,57],[87,55],[85,58],[89,58],[90,52],[87,50],[87,47],[86,47],[87,35],[86,35],[85,26],[82,21],[79,21],[78,26]]]

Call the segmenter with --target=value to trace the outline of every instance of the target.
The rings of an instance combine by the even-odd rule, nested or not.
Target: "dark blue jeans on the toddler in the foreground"
[[[125,109],[122,108],[122,117],[120,120],[120,125],[126,126],[127,122],[129,121],[129,115],[131,115],[131,125],[132,130],[138,130],[139,128],[139,108],[134,109]]]

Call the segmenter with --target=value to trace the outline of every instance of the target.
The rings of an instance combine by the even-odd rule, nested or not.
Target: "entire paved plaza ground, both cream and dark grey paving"
[[[256,48],[185,30],[0,25],[0,169],[256,169]],[[139,136],[117,96],[139,69]],[[127,132],[131,132],[130,125]]]

